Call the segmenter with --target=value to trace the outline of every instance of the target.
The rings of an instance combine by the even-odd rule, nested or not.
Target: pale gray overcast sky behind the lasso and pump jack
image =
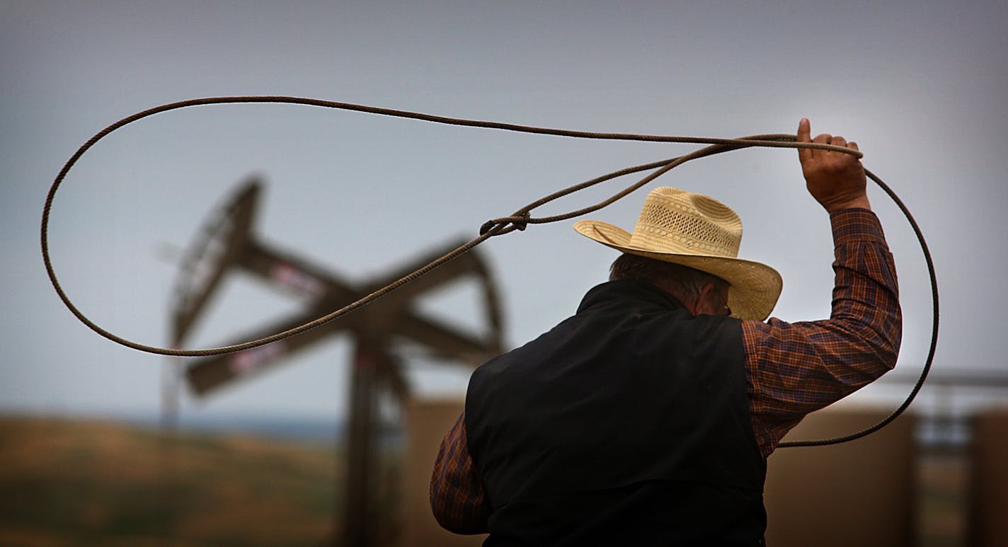
[[[0,1],[0,408],[158,407],[165,359],[92,333],[55,296],[38,249],[41,208],[64,162],[102,128],[159,104],[223,95],[712,137],[793,132],[808,117],[813,133],[859,142],[866,166],[928,238],[942,295],[935,370],[1004,371],[1008,337],[995,312],[1008,294],[989,279],[1008,262],[1006,25],[1003,2]],[[186,109],[128,126],[85,155],[56,196],[50,248],[86,314],[162,346],[175,276],[163,250],[188,245],[250,173],[268,183],[256,226],[264,240],[363,280],[559,187],[694,148],[285,105]],[[740,213],[741,255],[784,277],[774,315],[829,313],[829,222],[804,192],[793,150],[699,160],[658,184],[709,193]],[[903,290],[898,370],[911,375],[929,334],[926,272],[910,229],[871,191]],[[593,218],[632,229],[645,193]],[[481,248],[502,285],[511,344],[573,312],[605,277],[613,252],[570,225],[533,226]],[[471,289],[427,305],[479,323]],[[298,305],[236,277],[195,343],[216,346]],[[334,339],[184,408],[341,415],[348,348]],[[415,376],[426,392],[465,385],[462,375],[422,369]]]

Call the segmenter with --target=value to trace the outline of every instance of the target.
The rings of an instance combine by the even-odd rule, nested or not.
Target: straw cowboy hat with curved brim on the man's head
[[[738,258],[742,221],[721,201],[676,188],[659,187],[644,199],[633,234],[600,221],[574,229],[624,253],[695,268],[728,281],[728,306],[741,319],[763,320],[780,296],[780,274]]]

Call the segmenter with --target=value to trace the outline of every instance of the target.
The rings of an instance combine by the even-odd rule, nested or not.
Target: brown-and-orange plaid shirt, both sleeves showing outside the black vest
[[[878,218],[851,209],[830,220],[836,254],[830,318],[742,321],[749,412],[764,457],[805,414],[896,364],[902,325],[896,269]],[[442,442],[430,506],[437,522],[453,532],[487,532],[490,504],[467,448],[465,415]]]

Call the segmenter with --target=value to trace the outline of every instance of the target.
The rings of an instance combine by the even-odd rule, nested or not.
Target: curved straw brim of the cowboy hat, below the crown
[[[630,246],[631,234],[601,221],[579,221],[579,234],[624,253],[670,262],[716,275],[732,285],[728,307],[740,319],[766,319],[780,297],[783,280],[777,270],[751,260],[716,255],[663,253]]]

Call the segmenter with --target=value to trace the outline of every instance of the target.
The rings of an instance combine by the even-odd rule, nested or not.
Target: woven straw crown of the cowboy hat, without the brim
[[[660,187],[644,200],[629,246],[735,258],[741,243],[742,220],[731,208],[707,195]]]

